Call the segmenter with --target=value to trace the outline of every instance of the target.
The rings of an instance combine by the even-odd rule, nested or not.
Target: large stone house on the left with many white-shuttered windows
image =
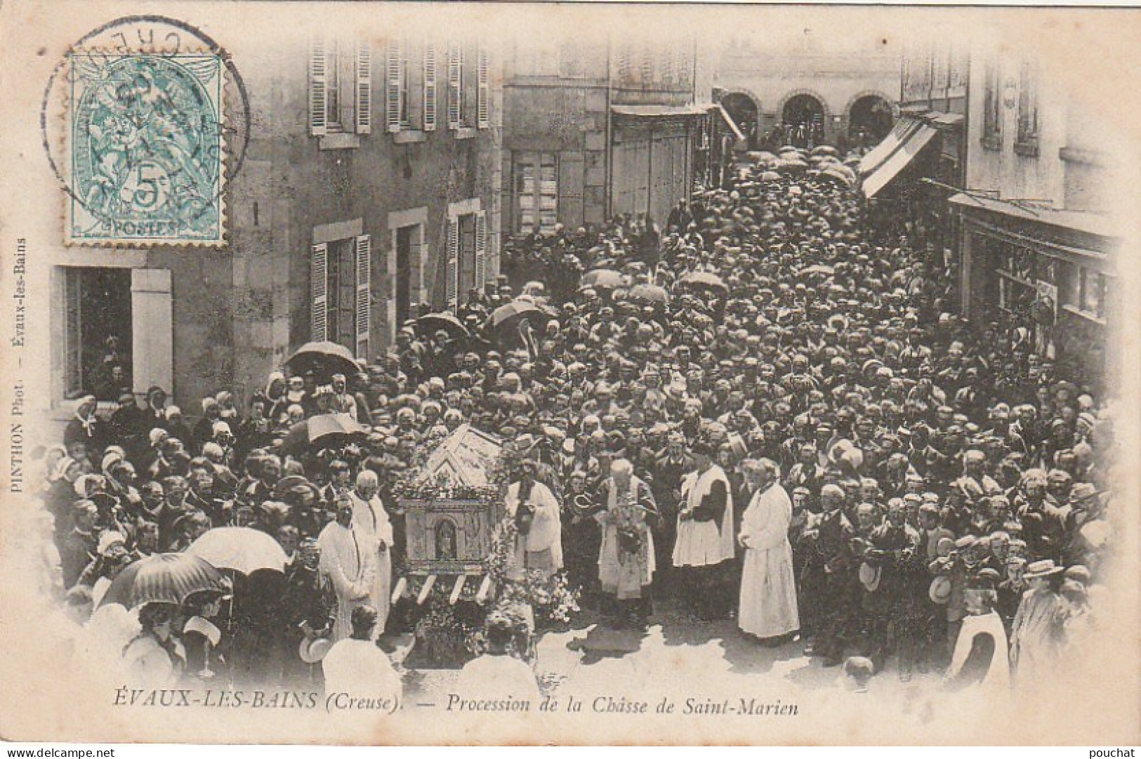
[[[193,418],[220,389],[248,402],[304,342],[372,360],[418,304],[455,308],[494,280],[500,57],[475,38],[342,29],[356,37],[218,35],[250,114],[227,244],[52,253],[52,418],[104,386],[112,349],[138,396],[161,386]]]

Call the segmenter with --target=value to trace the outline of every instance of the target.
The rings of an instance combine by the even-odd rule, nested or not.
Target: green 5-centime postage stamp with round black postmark
[[[225,241],[224,68],[216,53],[73,51],[67,241]]]

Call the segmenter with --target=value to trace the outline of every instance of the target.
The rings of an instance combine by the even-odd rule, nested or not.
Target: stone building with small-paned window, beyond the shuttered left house
[[[664,225],[707,179],[730,127],[697,95],[691,39],[519,40],[505,56],[507,234],[618,213]]]

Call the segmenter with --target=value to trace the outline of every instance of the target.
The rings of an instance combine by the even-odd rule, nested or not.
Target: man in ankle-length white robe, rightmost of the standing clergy
[[[751,636],[776,643],[800,628],[788,542],[792,500],[779,484],[775,462],[750,459],[742,468],[753,496],[737,536],[745,549],[737,624]]]

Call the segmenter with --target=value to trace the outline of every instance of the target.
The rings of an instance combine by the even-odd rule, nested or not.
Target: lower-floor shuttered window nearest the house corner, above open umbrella
[[[369,235],[317,243],[310,250],[309,339],[369,353],[372,321],[372,242]]]

